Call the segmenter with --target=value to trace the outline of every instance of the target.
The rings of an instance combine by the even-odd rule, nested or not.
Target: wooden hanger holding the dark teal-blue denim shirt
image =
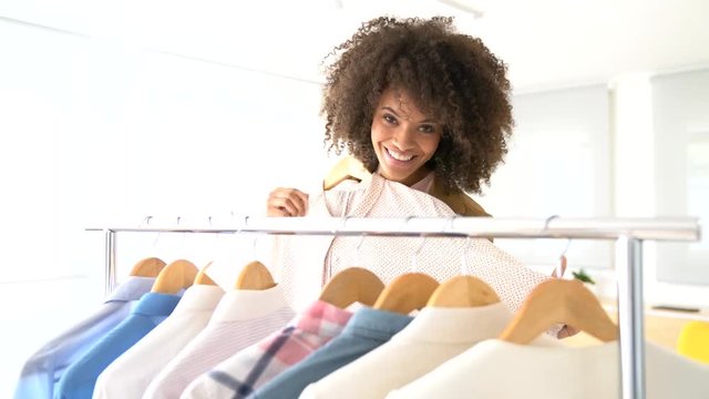
[[[408,315],[425,306],[439,282],[423,273],[407,273],[394,278],[379,294],[374,309]]]

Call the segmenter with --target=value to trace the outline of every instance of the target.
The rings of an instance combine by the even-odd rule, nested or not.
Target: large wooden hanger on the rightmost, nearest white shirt
[[[586,331],[604,342],[618,338],[618,327],[583,283],[554,278],[530,293],[500,339],[528,344],[556,324]]]

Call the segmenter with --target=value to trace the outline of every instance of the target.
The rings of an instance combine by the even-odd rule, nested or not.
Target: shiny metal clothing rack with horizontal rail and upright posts
[[[244,217],[209,226],[145,226],[88,228],[105,233],[106,288],[115,285],[116,235],[122,232],[209,234],[297,234],[347,236],[430,236],[499,238],[614,239],[618,280],[618,327],[621,397],[645,398],[645,331],[643,308],[643,242],[696,242],[697,218],[306,218]]]

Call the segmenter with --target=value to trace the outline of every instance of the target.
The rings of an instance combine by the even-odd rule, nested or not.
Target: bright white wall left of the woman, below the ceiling
[[[316,83],[3,19],[0,53],[2,398],[33,350],[101,303],[103,237],[85,227],[259,214],[275,185],[312,187],[329,163]],[[123,275],[144,256],[203,266],[205,247],[238,250],[120,239]]]

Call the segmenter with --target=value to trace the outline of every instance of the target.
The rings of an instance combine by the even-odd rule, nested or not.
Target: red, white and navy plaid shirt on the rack
[[[245,398],[338,336],[352,314],[318,300],[282,330],[203,374],[181,398]]]

